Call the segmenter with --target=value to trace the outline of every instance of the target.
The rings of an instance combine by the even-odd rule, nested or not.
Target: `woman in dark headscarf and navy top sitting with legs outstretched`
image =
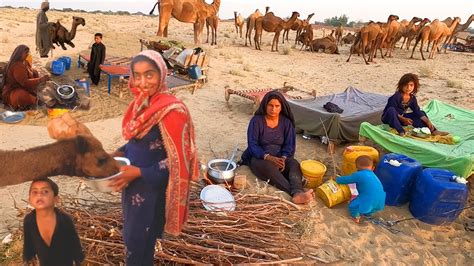
[[[267,93],[250,120],[242,162],[261,180],[289,193],[294,203],[305,204],[312,200],[313,191],[304,191],[300,165],[293,158],[294,123],[285,97],[277,91]]]

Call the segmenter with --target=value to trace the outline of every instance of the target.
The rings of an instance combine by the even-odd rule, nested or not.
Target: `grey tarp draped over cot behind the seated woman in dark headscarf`
[[[362,92],[348,87],[344,92],[314,99],[288,99],[295,117],[296,127],[305,134],[324,136],[324,127],[331,140],[357,141],[362,122],[381,124],[382,111],[388,96]],[[331,102],[343,109],[342,113],[330,113],[324,105]],[[324,123],[324,126],[323,126]]]

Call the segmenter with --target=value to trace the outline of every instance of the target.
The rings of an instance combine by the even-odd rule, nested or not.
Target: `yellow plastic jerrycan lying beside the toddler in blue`
[[[316,189],[316,195],[324,202],[324,205],[331,208],[350,200],[351,189],[348,185],[338,184],[331,179]]]

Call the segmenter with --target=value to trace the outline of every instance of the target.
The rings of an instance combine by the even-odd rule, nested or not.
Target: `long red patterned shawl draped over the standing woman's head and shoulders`
[[[137,88],[133,88],[133,77],[130,78],[129,87],[135,94],[135,99],[123,118],[122,134],[126,140],[140,139],[153,126],[158,125],[168,156],[169,170],[165,231],[178,235],[188,216],[190,181],[197,180],[199,176],[194,127],[184,103],[167,93],[167,69],[161,55],[151,50],[143,51],[140,55],[147,56],[157,64],[161,73],[161,87],[148,98]]]

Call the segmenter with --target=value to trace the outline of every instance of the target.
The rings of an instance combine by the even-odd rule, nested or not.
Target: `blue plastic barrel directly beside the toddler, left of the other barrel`
[[[401,165],[393,166],[388,163],[390,160],[397,160]],[[422,171],[421,164],[415,159],[403,154],[385,154],[375,168],[375,175],[380,179],[387,194],[385,204],[400,206],[407,203],[416,177]]]

